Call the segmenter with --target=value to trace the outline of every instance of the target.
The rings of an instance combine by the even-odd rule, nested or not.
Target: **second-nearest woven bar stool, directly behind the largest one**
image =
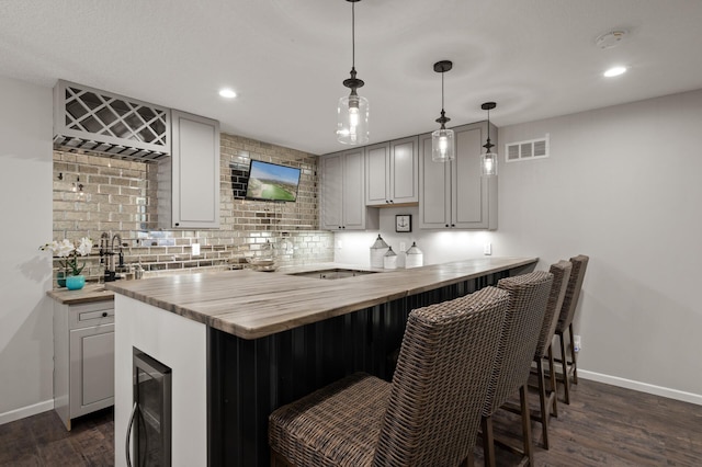
[[[514,451],[522,454],[530,465],[534,464],[526,384],[552,283],[553,275],[545,271],[502,278],[497,283],[499,288],[509,292],[510,301],[480,420],[483,455],[487,466],[495,466],[492,414],[517,391],[520,397],[523,451]]]

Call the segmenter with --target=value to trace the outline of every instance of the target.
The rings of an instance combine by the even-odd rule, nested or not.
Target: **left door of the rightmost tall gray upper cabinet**
[[[431,160],[431,134],[419,137],[419,228],[451,227],[451,163]]]

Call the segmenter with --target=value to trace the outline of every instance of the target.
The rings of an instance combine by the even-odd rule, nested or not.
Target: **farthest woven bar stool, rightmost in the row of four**
[[[556,335],[561,341],[561,360],[558,362],[563,367],[561,380],[563,380],[565,387],[566,403],[570,403],[570,375],[573,375],[573,383],[578,384],[578,362],[573,335],[573,318],[575,317],[578,298],[580,298],[580,289],[582,288],[582,281],[585,280],[585,271],[588,269],[588,261],[590,261],[590,258],[585,254],[570,258],[573,272],[568,280],[568,288],[566,288],[566,296],[563,299],[558,324],[556,326]],[[566,331],[569,334],[570,357],[566,354],[566,345],[563,337]]]

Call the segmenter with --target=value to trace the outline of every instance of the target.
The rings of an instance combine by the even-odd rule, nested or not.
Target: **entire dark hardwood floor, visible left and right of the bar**
[[[541,447],[541,425],[532,423],[537,466],[702,466],[701,406],[586,379],[570,398],[570,406],[559,399],[550,451]],[[498,436],[521,433],[507,411],[498,412],[495,429]],[[7,423],[0,425],[0,466],[111,466],[113,430],[111,409],[75,420],[71,432],[54,411]],[[475,460],[483,464],[480,448]],[[499,447],[497,460],[519,462]]]

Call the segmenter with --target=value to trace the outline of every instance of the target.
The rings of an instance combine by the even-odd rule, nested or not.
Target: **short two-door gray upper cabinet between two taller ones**
[[[419,138],[411,136],[365,148],[365,204],[419,201]]]

